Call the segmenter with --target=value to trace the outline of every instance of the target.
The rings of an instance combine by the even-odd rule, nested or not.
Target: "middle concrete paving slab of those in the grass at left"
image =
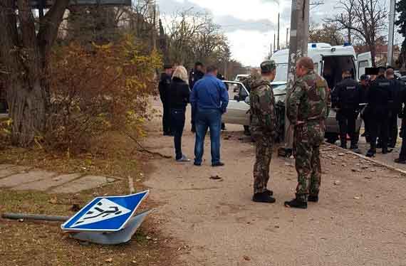
[[[36,191],[46,191],[48,188],[61,186],[64,183],[68,183],[69,181],[80,178],[80,176],[82,176],[82,174],[79,174],[79,173],[63,174],[61,176],[53,176],[52,178],[49,178],[49,179],[33,181],[30,183],[24,183],[19,186],[15,186],[13,189],[16,189],[16,190],[32,189],[32,190],[36,190]]]

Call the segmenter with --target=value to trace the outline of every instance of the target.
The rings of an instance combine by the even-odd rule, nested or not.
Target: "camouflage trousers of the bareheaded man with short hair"
[[[321,185],[320,146],[296,142],[296,197],[307,201],[308,195],[317,196]]]

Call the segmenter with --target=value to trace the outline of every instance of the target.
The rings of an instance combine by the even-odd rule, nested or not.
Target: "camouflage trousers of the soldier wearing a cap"
[[[272,159],[273,140],[271,137],[255,137],[254,193],[266,190]]]

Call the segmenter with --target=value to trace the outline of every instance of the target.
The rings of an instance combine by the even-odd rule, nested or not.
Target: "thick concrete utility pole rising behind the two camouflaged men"
[[[308,52],[309,11],[309,0],[292,0],[286,101],[295,82],[296,62],[298,58],[306,56]],[[285,152],[283,154],[291,153],[293,149],[294,128],[286,117],[286,106],[285,102]]]

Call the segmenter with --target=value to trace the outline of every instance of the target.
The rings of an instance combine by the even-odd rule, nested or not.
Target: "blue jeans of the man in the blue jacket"
[[[222,127],[222,112],[216,109],[198,110],[196,114],[196,143],[194,144],[194,163],[202,164],[204,153],[204,137],[210,129],[212,149],[212,164],[220,161],[220,130]]]

